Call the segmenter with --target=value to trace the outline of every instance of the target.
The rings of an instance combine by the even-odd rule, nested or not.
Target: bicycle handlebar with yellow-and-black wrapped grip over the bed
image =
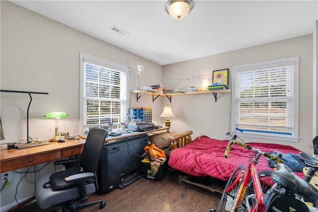
[[[250,149],[250,150],[254,151],[254,152],[257,153],[257,154],[260,153],[261,155],[264,155],[265,157],[267,157],[267,158],[269,158],[269,159],[275,160],[275,166],[274,166],[275,169],[276,169],[277,163],[283,163],[283,162],[284,162],[284,161],[281,159],[281,158],[282,158],[282,154],[279,153],[279,154],[277,154],[277,157],[276,157],[276,156],[274,156],[274,155],[272,155],[272,154],[270,154],[270,153],[263,152],[263,151],[261,151],[261,150],[259,150],[259,149],[257,149],[257,148],[254,148],[254,147],[252,147],[252,146],[250,146],[250,145],[248,145],[248,144],[246,144],[246,143],[243,143],[243,142],[240,142],[240,141],[236,141],[236,138],[237,138],[237,136],[234,135],[234,136],[231,138],[231,141],[229,141],[229,143],[228,143],[228,145],[227,145],[227,147],[226,147],[226,149],[225,149],[225,153],[224,153],[224,157],[225,157],[225,158],[228,158],[228,157],[229,157],[229,152],[230,152],[230,150],[231,150],[231,146],[235,143],[235,144],[240,145],[240,146],[242,146],[242,147],[244,147],[244,148]]]

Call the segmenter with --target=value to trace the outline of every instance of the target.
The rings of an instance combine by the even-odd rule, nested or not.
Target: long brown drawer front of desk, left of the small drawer
[[[52,158],[61,158],[61,150],[26,156],[19,159],[18,162],[12,160],[1,161],[1,172],[48,162],[51,161]]]

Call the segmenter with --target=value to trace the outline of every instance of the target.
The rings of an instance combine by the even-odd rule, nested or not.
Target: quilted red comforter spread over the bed
[[[220,180],[228,180],[239,164],[248,165],[250,154],[253,153],[246,148],[233,144],[229,158],[226,159],[224,152],[228,142],[227,140],[220,141],[201,136],[186,146],[171,151],[168,164],[171,168],[188,175],[196,177],[211,176]],[[288,145],[256,142],[248,144],[266,152],[273,152],[274,150],[294,154],[300,152],[300,150]],[[264,156],[259,159],[256,167],[258,171],[272,169],[268,166]],[[302,172],[295,173],[304,178]]]

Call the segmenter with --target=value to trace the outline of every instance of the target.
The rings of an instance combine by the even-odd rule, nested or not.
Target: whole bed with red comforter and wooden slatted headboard
[[[233,157],[230,158],[231,160],[223,160],[224,149],[228,141],[216,140],[203,135],[194,139],[193,142],[190,139],[190,135],[192,135],[192,131],[170,136],[169,141],[177,141],[177,148],[172,150],[169,155],[169,166],[171,170],[178,171],[181,175],[186,176],[183,177],[181,181],[208,189],[212,192],[222,193],[224,183],[227,182],[226,178],[232,174],[231,170],[241,163],[240,160],[247,161],[250,157],[250,155],[247,154],[248,150],[240,146],[233,146],[231,151]],[[299,171],[302,164],[298,164],[293,157],[290,158],[287,155],[287,153],[298,154],[300,152],[299,149],[293,146],[275,143],[251,142],[250,145],[263,149],[263,151],[275,152],[278,149],[279,152],[283,154],[286,153],[285,164],[292,164],[296,169],[294,171],[295,174],[299,177],[303,177],[303,172]],[[246,154],[242,154],[242,152]],[[240,160],[235,160],[235,157],[240,158]],[[268,166],[268,161],[262,158],[262,161],[259,163],[259,170],[266,169],[272,170],[272,168]],[[221,189],[219,186],[217,186],[217,188],[215,187],[217,184],[221,186]]]

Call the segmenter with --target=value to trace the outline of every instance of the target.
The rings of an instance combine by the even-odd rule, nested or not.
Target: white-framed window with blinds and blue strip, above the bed
[[[298,141],[298,58],[234,67],[232,84],[232,132]]]

